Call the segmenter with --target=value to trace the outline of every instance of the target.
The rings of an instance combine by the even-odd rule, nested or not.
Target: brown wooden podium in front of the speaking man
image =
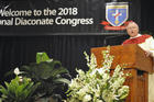
[[[91,48],[97,58],[98,67],[102,65],[102,50],[107,47]],[[125,84],[130,87],[130,93],[125,102],[148,102],[148,72],[153,71],[153,60],[146,57],[144,50],[135,44],[111,46],[110,54],[114,56],[111,70],[117,65],[127,64],[124,72],[130,72]]]

